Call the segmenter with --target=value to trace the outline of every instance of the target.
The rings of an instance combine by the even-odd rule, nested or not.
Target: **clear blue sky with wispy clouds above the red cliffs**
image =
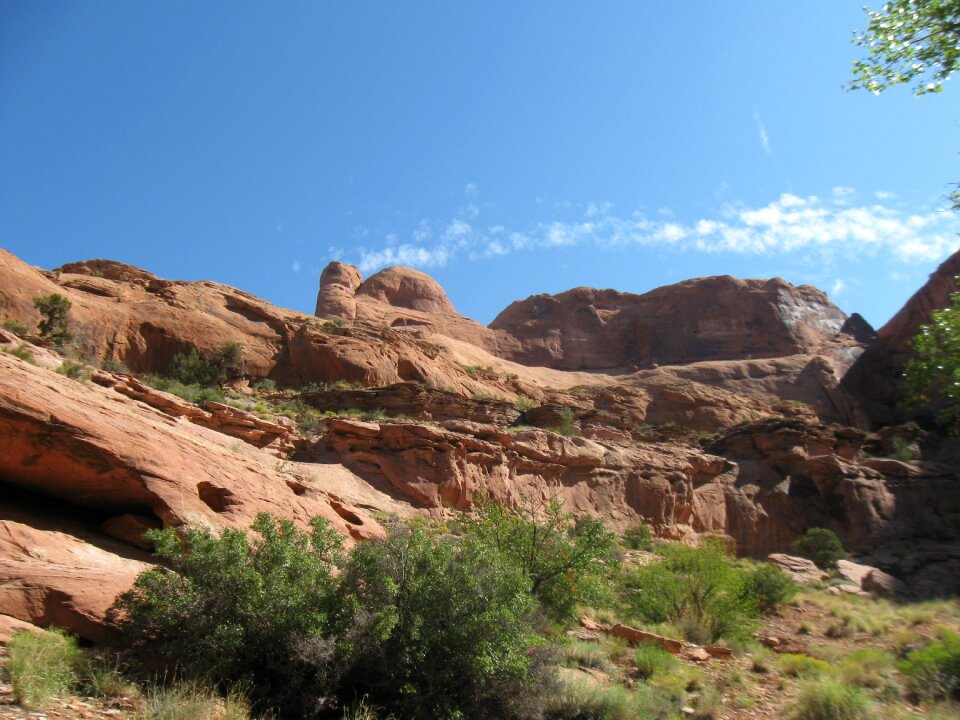
[[[0,0],[0,247],[307,312],[406,264],[484,323],[779,275],[879,325],[960,245],[960,90],[844,91],[861,3]]]

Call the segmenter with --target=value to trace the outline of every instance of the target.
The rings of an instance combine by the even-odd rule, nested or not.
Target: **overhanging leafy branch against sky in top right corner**
[[[880,93],[914,83],[913,92],[941,92],[960,63],[960,0],[890,0],[867,10],[867,30],[854,42],[867,57],[853,64],[851,89]]]

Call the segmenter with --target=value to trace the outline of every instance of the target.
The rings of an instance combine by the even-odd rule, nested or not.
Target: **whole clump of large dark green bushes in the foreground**
[[[543,688],[538,609],[570,614],[612,536],[556,504],[534,517],[489,503],[457,525],[391,526],[348,554],[319,519],[310,535],[266,515],[252,538],[154,531],[166,567],[111,617],[148,674],[242,684],[282,716],[366,697],[408,718],[527,717]]]

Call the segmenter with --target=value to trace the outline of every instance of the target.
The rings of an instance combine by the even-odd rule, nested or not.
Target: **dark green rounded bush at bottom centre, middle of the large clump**
[[[407,718],[511,717],[529,682],[527,578],[476,538],[394,528],[357,545],[338,605],[343,681]]]

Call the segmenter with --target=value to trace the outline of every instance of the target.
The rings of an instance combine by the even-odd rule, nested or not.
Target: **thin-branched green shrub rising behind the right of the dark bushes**
[[[598,560],[608,558],[615,540],[602,522],[565,512],[559,500],[509,510],[480,499],[476,516],[464,518],[463,525],[468,537],[518,566],[530,593],[559,617],[571,616],[598,589],[604,570]]]

